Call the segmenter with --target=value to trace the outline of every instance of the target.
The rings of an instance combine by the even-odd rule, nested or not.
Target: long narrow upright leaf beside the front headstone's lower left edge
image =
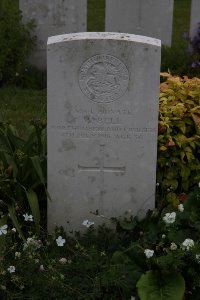
[[[39,208],[39,202],[38,197],[36,193],[33,190],[26,191],[26,196],[31,208],[31,213],[33,215],[33,219],[36,225],[36,230],[39,232],[40,228],[40,208]]]

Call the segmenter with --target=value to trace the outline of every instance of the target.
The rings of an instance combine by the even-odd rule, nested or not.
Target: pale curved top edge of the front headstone
[[[79,32],[51,36],[48,38],[48,45],[55,43],[63,43],[76,40],[124,40],[135,43],[150,44],[154,46],[161,46],[161,40],[128,33],[116,32]]]

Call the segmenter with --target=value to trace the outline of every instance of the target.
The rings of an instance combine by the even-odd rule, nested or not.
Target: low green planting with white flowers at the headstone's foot
[[[24,242],[3,216],[1,298],[198,300],[199,207],[196,187],[176,208],[112,220],[115,230],[91,226],[71,236],[57,228],[38,236],[30,226]]]

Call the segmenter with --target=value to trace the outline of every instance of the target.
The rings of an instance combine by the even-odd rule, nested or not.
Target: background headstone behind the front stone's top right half
[[[174,0],[106,0],[106,31],[161,39],[171,46]]]

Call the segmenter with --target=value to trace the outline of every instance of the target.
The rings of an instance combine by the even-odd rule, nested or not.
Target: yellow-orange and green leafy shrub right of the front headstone
[[[200,181],[200,79],[162,75],[157,179],[176,203]]]

